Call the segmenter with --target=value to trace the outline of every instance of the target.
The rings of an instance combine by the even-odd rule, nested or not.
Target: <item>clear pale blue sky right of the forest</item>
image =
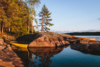
[[[100,0],[40,0],[36,13],[45,4],[51,12],[51,31],[100,31]],[[39,17],[37,16],[37,19]]]

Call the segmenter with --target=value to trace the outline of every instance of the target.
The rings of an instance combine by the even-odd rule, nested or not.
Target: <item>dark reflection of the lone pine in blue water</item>
[[[50,60],[51,58],[50,56],[46,56],[46,57],[40,57],[36,55],[34,56],[35,56],[33,58],[34,60],[31,59],[29,67],[51,67],[50,64],[52,63],[52,60]],[[37,65],[37,63],[39,64]]]

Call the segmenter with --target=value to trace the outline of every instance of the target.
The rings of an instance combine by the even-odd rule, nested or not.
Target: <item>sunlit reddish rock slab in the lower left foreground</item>
[[[0,38],[0,67],[25,67],[13,49]]]

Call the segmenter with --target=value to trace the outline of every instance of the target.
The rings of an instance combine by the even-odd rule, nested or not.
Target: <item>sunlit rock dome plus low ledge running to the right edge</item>
[[[29,47],[60,47],[70,44],[89,44],[100,45],[100,41],[90,41],[84,39],[73,39],[67,34],[58,33],[39,33],[38,38],[29,43]]]

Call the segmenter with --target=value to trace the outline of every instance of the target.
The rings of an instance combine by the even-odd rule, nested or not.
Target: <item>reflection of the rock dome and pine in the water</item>
[[[68,47],[68,46],[67,46]],[[64,49],[64,47],[59,48],[29,48],[32,57],[30,58],[30,67],[51,67],[51,57],[58,54]]]

